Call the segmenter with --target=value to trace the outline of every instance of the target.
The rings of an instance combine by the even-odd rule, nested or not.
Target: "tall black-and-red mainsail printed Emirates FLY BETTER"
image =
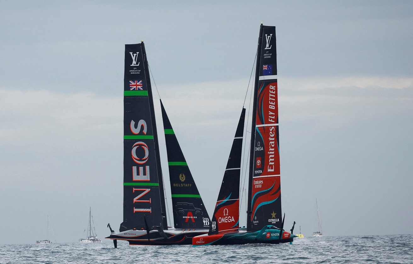
[[[275,27],[260,28],[252,117],[247,230],[281,227]]]

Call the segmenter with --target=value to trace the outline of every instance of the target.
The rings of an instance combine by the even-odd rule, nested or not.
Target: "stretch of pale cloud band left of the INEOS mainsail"
[[[64,142],[88,145],[91,138],[121,127],[122,98],[93,93],[0,89],[0,145]],[[21,140],[21,139],[26,140]]]

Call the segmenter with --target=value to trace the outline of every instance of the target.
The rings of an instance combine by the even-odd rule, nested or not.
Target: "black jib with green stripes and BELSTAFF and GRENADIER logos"
[[[161,101],[175,228],[209,227],[209,216]]]

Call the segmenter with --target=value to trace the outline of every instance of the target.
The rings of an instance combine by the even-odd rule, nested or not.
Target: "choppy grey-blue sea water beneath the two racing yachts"
[[[21,263],[413,263],[412,235],[324,236],[289,243],[192,247],[104,243],[0,245],[1,264]]]

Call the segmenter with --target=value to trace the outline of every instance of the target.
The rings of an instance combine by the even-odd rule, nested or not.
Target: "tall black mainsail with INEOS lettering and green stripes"
[[[125,45],[123,223],[119,230],[167,228],[157,129],[145,46]]]

